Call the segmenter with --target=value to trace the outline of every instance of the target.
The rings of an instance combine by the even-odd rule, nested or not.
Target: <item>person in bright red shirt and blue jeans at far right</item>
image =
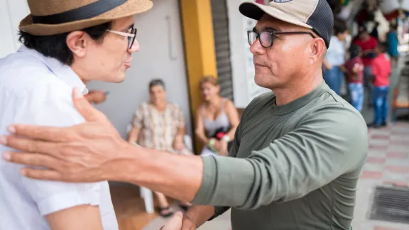
[[[387,125],[389,76],[392,72],[392,66],[391,61],[385,55],[386,47],[383,43],[377,45],[376,57],[372,62],[373,109],[375,115],[372,126],[374,128]]]

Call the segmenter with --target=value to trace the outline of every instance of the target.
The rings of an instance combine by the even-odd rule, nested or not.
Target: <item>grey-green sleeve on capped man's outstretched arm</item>
[[[356,111],[326,104],[248,158],[203,157],[202,185],[193,203],[257,209],[298,199],[359,170],[366,159],[367,135]]]

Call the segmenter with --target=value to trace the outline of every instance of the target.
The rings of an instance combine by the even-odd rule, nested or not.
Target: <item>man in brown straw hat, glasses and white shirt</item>
[[[0,133],[14,122],[72,126],[84,122],[71,92],[86,82],[122,82],[138,51],[133,15],[150,0],[28,0],[16,52],[0,59]],[[0,152],[7,150],[0,146]],[[63,167],[63,166],[62,166]],[[107,181],[31,180],[0,160],[0,229],[116,230]]]

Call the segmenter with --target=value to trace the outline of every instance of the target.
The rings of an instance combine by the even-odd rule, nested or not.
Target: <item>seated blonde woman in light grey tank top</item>
[[[201,155],[227,155],[239,125],[239,113],[233,102],[219,96],[219,82],[214,77],[200,80],[204,103],[196,111],[196,136],[205,144]]]

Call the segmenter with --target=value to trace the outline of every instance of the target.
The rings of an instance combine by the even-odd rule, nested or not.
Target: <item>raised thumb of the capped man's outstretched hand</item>
[[[104,114],[89,104],[77,87],[72,91],[72,101],[77,111],[80,112],[87,121],[98,121],[104,117]]]

